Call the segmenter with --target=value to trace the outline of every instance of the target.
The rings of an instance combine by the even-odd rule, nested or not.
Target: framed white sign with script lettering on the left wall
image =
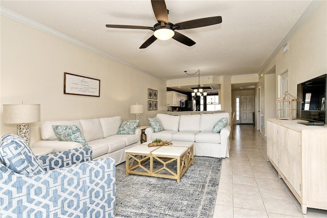
[[[63,94],[100,97],[100,79],[64,73]]]

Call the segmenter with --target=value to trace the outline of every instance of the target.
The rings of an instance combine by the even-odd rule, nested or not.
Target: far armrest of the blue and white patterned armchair
[[[82,147],[72,150],[59,151],[54,154],[37,156],[45,171],[70,166],[92,160],[92,148]]]

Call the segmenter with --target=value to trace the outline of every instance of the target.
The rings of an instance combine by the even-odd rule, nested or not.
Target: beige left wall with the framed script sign
[[[101,80],[100,97],[64,95],[64,72]],[[41,104],[41,121],[121,116],[144,104],[142,125],[166,110],[166,81],[135,70],[8,17],[1,17],[1,104]],[[158,90],[158,111],[147,111],[148,88]],[[1,106],[1,118],[3,117]],[[31,142],[40,139],[32,124]],[[1,135],[15,133],[1,121]]]

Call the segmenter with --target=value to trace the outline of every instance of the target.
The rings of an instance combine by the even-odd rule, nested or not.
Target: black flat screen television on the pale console
[[[297,85],[296,118],[308,122],[305,125],[324,125],[326,118],[326,76],[318,76]]]

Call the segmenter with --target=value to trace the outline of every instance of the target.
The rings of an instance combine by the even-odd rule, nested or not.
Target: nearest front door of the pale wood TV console
[[[301,134],[292,129],[288,129],[288,172],[285,175],[295,189],[298,195],[301,196],[301,178],[302,178],[302,158],[301,158]]]

